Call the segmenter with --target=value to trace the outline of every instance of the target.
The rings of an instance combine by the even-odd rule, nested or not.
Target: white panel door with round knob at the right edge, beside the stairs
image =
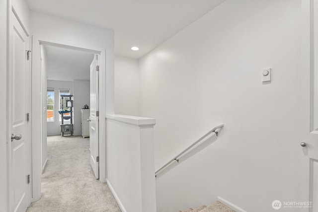
[[[318,0],[303,0],[301,198],[318,212]]]

